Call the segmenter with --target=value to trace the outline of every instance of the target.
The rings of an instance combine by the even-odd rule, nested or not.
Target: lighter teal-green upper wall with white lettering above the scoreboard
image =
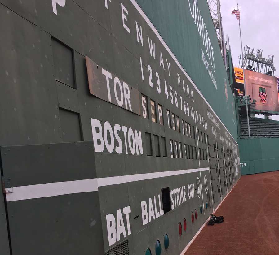
[[[157,28],[215,113],[237,139],[235,103],[207,1],[136,0],[136,2]],[[217,89],[203,61],[202,51],[206,55],[206,44],[203,43],[199,33],[200,28],[197,26],[199,21],[206,24],[204,31],[206,29],[214,52],[215,68],[210,66],[210,71],[216,80]],[[205,59],[210,65],[207,55]]]

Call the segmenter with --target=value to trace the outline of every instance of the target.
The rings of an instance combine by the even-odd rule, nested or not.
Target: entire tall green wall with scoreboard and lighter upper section
[[[140,4],[0,0],[1,255],[184,254],[241,177],[206,0]]]

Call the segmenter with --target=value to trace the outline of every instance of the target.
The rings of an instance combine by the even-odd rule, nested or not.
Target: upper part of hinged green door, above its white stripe
[[[92,141],[4,146],[1,147],[3,175],[12,179],[14,187],[95,178],[92,151]]]

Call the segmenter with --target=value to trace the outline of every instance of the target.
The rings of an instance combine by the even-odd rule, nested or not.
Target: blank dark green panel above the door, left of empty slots
[[[51,36],[2,4],[0,23],[0,144],[61,142]]]

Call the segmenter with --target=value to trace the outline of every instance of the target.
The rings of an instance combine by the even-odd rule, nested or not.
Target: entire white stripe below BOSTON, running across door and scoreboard
[[[114,184],[123,184],[134,181],[142,181],[174,175],[183,175],[199,171],[206,171],[209,168],[175,170],[165,172],[153,172],[146,174],[112,176],[99,179],[86,179],[67,182],[53,182],[44,184],[35,184],[27,186],[13,187],[12,193],[6,193],[6,200],[18,201],[40,197],[54,197],[73,193],[98,191],[98,187]]]

